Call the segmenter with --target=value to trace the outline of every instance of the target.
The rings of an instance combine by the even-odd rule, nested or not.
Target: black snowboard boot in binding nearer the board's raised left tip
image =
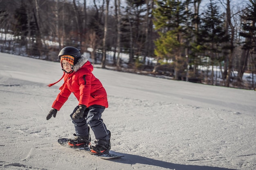
[[[67,144],[73,147],[88,147],[91,144],[91,136],[90,133],[88,136],[76,136],[74,134],[75,139],[68,139]]]

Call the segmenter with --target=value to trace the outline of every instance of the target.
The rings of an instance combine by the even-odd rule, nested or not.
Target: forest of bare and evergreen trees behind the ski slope
[[[65,46],[101,68],[256,89],[256,0],[0,0],[0,52],[58,62]]]

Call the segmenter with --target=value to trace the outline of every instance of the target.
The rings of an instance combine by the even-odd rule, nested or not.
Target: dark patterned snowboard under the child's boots
[[[101,159],[116,159],[116,158],[124,157],[124,156],[118,156],[118,155],[115,155],[115,154],[112,154],[112,153],[103,154],[103,155],[90,154],[90,148],[89,147],[72,147],[69,144],[67,144],[67,141],[68,141],[67,138],[58,139],[58,143],[61,146],[65,146],[67,148],[71,148],[71,149],[74,149],[76,151],[83,152],[85,154],[92,155],[94,157],[98,157],[98,158],[101,158]]]

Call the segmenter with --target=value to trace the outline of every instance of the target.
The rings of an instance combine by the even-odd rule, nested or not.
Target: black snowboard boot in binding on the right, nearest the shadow
[[[98,139],[95,142],[95,146],[91,146],[91,150],[90,150],[90,154],[95,154],[95,155],[103,155],[103,154],[108,154],[108,152],[110,151],[111,148],[111,144],[110,144],[110,131],[109,132],[109,140],[105,141],[103,139]]]

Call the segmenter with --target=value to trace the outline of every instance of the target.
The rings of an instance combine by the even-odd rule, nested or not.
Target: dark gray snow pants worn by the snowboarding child
[[[72,115],[76,112],[76,109],[79,106],[76,106],[73,113],[70,115],[72,119]],[[101,119],[101,114],[105,110],[104,106],[99,105],[92,105],[85,109],[83,113],[83,117],[79,119],[72,119],[72,123],[75,126],[76,135],[77,136],[88,136],[89,134],[89,126],[91,127],[92,131],[94,132],[96,139],[103,139],[108,141],[109,139],[109,132],[107,131],[106,125],[103,123]]]

